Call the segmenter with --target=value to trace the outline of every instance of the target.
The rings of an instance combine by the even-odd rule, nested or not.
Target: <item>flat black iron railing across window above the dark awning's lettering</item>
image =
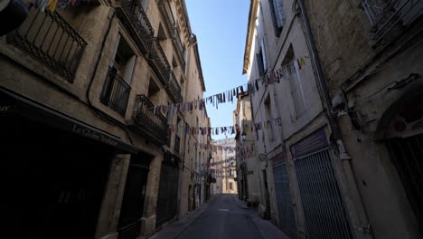
[[[100,95],[100,101],[118,114],[125,116],[130,91],[131,87],[127,81],[122,79],[115,69],[108,67],[108,76]]]

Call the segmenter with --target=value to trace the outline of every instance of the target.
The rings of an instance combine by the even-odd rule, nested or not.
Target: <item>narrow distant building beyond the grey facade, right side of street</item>
[[[254,148],[254,134],[242,128],[251,122],[251,101],[249,93],[245,92],[238,96],[237,109],[233,111],[233,125],[237,128],[235,141],[238,194],[249,206],[257,206],[260,200],[258,162],[255,151],[244,150],[246,147]]]

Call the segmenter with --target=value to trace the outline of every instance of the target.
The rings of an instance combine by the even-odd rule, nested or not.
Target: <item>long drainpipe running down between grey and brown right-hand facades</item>
[[[356,232],[359,238],[372,238],[371,235],[371,227],[369,225],[369,220],[367,218],[364,206],[362,205],[362,197],[358,190],[358,186],[355,183],[355,176],[353,174],[353,168],[351,165],[352,158],[348,155],[345,150],[345,146],[343,144],[343,139],[341,136],[341,130],[339,128],[339,124],[337,119],[334,119],[334,115],[332,114],[332,100],[329,93],[329,90],[326,85],[325,77],[324,77],[324,70],[322,67],[322,62],[317,53],[317,48],[315,46],[315,40],[313,38],[313,33],[310,26],[310,21],[308,19],[308,15],[305,12],[305,3],[304,0],[297,0],[300,6],[300,13],[301,17],[305,26],[305,37],[310,44],[310,50],[312,53],[312,61],[315,64],[315,69],[317,71],[317,80],[318,84],[320,85],[320,90],[322,97],[324,98],[324,105],[326,110],[326,117],[329,120],[330,127],[332,129],[332,133],[334,139],[336,141],[336,146],[338,148],[339,157],[342,161],[344,177],[346,180],[346,186],[348,191],[350,192],[350,196],[352,196],[352,206],[354,210],[350,211],[353,229]],[[358,234],[361,233],[361,234]]]

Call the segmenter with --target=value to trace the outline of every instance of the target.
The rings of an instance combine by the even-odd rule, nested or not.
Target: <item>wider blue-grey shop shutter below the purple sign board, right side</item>
[[[296,158],[295,167],[308,238],[353,238],[330,149]]]

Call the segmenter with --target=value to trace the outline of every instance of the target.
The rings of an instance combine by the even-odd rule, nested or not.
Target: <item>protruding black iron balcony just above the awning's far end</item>
[[[128,123],[155,143],[164,145],[167,140],[166,119],[160,112],[155,112],[154,107],[146,95],[137,95],[134,115]]]

